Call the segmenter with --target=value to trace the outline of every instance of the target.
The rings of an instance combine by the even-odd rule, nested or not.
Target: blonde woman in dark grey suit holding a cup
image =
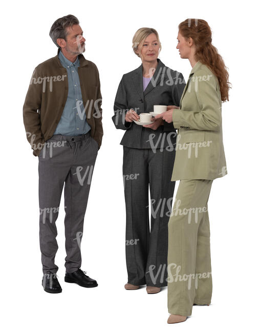
[[[176,130],[162,119],[140,126],[134,121],[154,105],[179,105],[185,82],[181,73],[165,66],[158,55],[161,43],[152,28],[139,29],[133,51],[141,65],[124,74],[114,102],[113,122],[124,130],[123,179],[126,203],[126,290],[146,284],[148,294],[167,286],[168,219],[175,182]],[[151,194],[149,230],[148,189]]]

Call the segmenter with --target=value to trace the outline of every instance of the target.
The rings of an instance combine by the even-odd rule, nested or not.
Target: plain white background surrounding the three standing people
[[[253,329],[256,304],[256,18],[244,1],[22,1],[2,7],[1,38],[1,302],[2,330],[225,330]],[[86,59],[100,73],[104,136],[94,170],[82,239],[82,270],[99,286],[64,282],[64,202],[57,220],[57,275],[61,294],[41,286],[38,239],[38,158],[26,139],[22,109],[35,66],[57,54],[52,23],[73,14],[84,31]],[[141,27],[160,36],[161,61],[187,80],[191,67],[180,59],[178,25],[207,20],[212,43],[229,68],[230,101],[223,104],[228,175],[213,182],[208,209],[213,295],[210,306],[194,306],[186,322],[166,323],[167,289],[124,290],[125,204],[121,130],[111,120],[120,79],[141,64],[132,38]],[[178,182],[176,184],[176,189]],[[176,194],[176,192],[175,192]]]

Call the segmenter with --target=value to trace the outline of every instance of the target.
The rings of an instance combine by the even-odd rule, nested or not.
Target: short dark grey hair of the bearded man
[[[67,31],[66,28],[72,27],[73,25],[79,24],[79,20],[74,15],[67,15],[58,18],[52,25],[49,36],[52,38],[53,42],[60,49],[60,46],[57,44],[56,40],[58,38],[63,38],[66,40]]]

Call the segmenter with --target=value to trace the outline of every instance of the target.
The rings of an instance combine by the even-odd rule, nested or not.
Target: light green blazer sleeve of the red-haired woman
[[[199,70],[197,74],[198,77],[206,75],[203,70]],[[219,86],[217,86],[213,76],[209,80],[202,80],[194,84],[193,91],[196,93],[201,111],[194,111],[194,109],[191,111],[174,109],[174,127],[197,130],[219,130],[222,123],[222,116],[220,93],[217,89],[219,89]],[[186,91],[186,93],[191,92]]]

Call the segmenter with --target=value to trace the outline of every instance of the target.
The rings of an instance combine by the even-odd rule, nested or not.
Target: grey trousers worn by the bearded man
[[[38,156],[39,241],[43,273],[56,273],[56,220],[63,184],[65,198],[66,272],[81,266],[80,241],[98,144],[90,133],[53,135]]]

